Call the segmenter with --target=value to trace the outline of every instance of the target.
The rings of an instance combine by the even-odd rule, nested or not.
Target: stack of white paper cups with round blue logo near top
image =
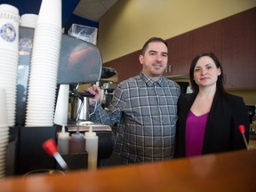
[[[0,84],[6,89],[9,126],[15,124],[19,25],[19,10],[10,4],[0,4]]]

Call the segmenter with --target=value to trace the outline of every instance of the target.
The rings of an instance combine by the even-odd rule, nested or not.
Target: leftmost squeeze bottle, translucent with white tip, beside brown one
[[[60,155],[68,154],[68,141],[69,141],[69,132],[65,132],[65,125],[62,125],[61,132],[57,133],[58,135],[58,150]]]

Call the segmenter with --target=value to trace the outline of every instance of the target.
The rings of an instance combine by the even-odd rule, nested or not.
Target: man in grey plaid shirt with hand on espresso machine
[[[140,75],[118,84],[108,109],[100,106],[98,86],[87,89],[95,95],[90,108],[97,105],[91,120],[117,126],[114,154],[124,164],[171,159],[174,155],[180,86],[162,76],[168,62],[166,42],[159,37],[148,39],[139,60]]]

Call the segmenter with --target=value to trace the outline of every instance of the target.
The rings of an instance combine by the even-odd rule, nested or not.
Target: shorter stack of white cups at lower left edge
[[[5,176],[6,148],[9,139],[5,89],[0,87],[0,179]]]

